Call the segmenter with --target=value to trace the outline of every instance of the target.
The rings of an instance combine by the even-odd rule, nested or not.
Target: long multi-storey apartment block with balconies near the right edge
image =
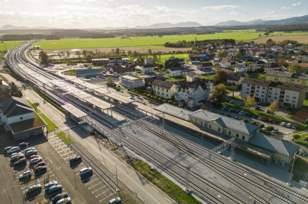
[[[290,108],[299,108],[304,104],[306,87],[279,81],[244,78],[241,82],[241,97],[255,96],[256,101],[278,102]]]

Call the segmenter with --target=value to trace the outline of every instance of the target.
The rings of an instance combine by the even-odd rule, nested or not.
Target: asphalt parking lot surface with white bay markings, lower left
[[[36,203],[43,199],[48,201],[48,198],[55,196],[54,193],[45,194],[44,184],[50,181],[59,182],[62,185],[62,191],[59,192],[66,192],[73,203],[108,203],[111,198],[116,197],[95,173],[80,178],[79,170],[87,165],[81,162],[76,166],[69,166],[69,158],[76,154],[62,140],[57,136],[48,136],[48,140],[44,136],[25,140],[29,147],[36,148],[46,163],[47,169],[39,173],[33,172],[29,159],[18,168],[13,168],[10,164],[10,157],[4,155],[4,148],[18,146],[18,142],[0,147],[1,203]],[[26,170],[31,171],[31,177],[19,180],[19,176]],[[42,189],[34,194],[26,194],[26,190],[34,184],[41,184]]]

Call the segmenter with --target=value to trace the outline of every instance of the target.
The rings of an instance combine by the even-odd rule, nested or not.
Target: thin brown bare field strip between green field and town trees
[[[147,53],[148,49],[144,49],[144,47],[142,48],[138,48],[138,47],[116,47],[119,48],[121,51],[125,51],[126,54],[127,52],[130,50],[132,52],[136,51],[136,52],[141,52],[141,53]],[[106,47],[106,48],[80,48],[80,49],[49,49],[49,50],[43,50],[44,52],[46,52],[47,54],[58,54],[60,52],[63,52],[64,54],[66,54],[66,51],[70,52],[71,54],[75,54],[76,51],[80,51],[81,54],[83,52],[83,50],[87,50],[87,51],[93,51],[95,52],[96,50],[99,50],[101,52],[111,52],[111,50],[116,50],[115,47]],[[173,51],[188,51],[191,50],[191,48],[153,48],[151,49],[152,52],[173,52]],[[37,51],[37,50],[36,50]],[[39,50],[39,52],[41,52],[42,50]]]

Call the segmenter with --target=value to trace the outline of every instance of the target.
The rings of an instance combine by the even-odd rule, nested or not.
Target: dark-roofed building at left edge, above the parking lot
[[[47,126],[25,99],[17,97],[0,100],[0,118],[14,140],[41,135]]]

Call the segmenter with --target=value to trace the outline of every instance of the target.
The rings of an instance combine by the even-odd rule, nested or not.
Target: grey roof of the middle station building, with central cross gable
[[[249,124],[246,122],[240,122],[237,119],[233,119],[231,117],[219,115],[214,112],[209,112],[207,110],[197,110],[190,114],[193,117],[197,117],[199,119],[204,119],[205,121],[216,121],[221,126],[232,129],[234,131],[238,131],[240,133],[244,133],[247,135],[251,135],[260,129],[259,126],[255,126],[253,124]]]

